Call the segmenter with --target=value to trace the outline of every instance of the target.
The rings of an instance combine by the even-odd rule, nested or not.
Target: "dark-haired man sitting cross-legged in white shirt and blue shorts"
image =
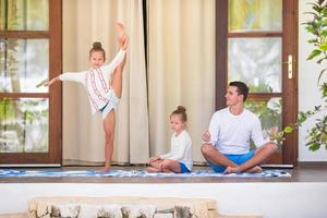
[[[275,143],[264,140],[261,121],[244,108],[249,87],[231,82],[227,89],[227,108],[218,110],[203,134],[202,153],[215,172],[262,172],[265,162],[277,149]],[[257,149],[250,150],[250,138]]]

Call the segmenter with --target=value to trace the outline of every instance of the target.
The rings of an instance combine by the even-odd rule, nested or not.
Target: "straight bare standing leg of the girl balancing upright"
[[[106,145],[105,145],[105,168],[101,171],[109,171],[111,167],[111,158],[113,153],[113,137],[114,137],[114,124],[116,124],[116,117],[114,110],[112,109],[104,121],[104,129],[105,129],[105,137],[106,137]]]

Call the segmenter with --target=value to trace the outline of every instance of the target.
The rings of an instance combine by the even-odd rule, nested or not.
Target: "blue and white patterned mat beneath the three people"
[[[144,170],[111,170],[109,172],[89,171],[89,170],[0,170],[0,178],[21,178],[21,177],[157,177],[157,178],[204,178],[204,177],[241,177],[241,178],[287,178],[291,177],[284,170],[264,170],[262,173],[231,173],[222,174],[210,170],[195,170],[191,173],[148,173]]]

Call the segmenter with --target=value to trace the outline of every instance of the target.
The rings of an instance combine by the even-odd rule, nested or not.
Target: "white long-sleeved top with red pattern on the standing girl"
[[[92,114],[95,114],[108,101],[108,92],[111,88],[111,75],[114,69],[121,63],[125,55],[125,50],[120,49],[113,60],[98,69],[90,69],[82,72],[68,72],[59,76],[61,81],[71,81],[81,83],[87,90],[88,100],[92,108]]]

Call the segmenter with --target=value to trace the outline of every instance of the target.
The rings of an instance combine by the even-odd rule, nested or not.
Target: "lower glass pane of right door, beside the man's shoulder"
[[[282,129],[282,102],[281,98],[270,98],[269,100],[245,101],[245,108],[254,112],[262,122],[264,138],[269,136],[269,131]],[[280,147],[279,147],[280,149]]]

